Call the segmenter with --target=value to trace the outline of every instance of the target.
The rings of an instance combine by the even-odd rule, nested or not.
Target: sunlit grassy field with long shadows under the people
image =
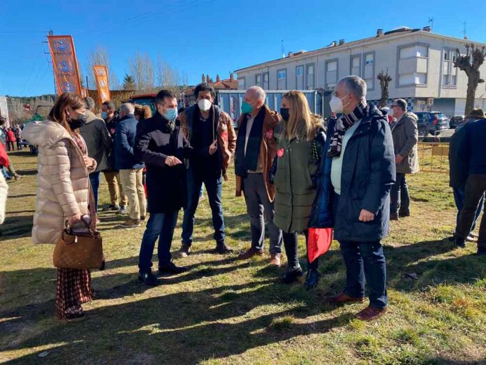
[[[307,291],[283,285],[268,257],[238,262],[213,255],[207,200],[197,213],[193,255],[175,262],[183,275],[159,287],[136,280],[143,228],[101,213],[106,271],[94,271],[96,300],[87,320],[54,316],[50,245],[32,245],[36,157],[13,153],[22,180],[10,183],[0,237],[0,362],[11,364],[475,364],[486,363],[486,262],[476,246],[448,240],[455,206],[446,174],[409,178],[412,217],[392,222],[384,242],[390,312],[377,322],[354,314],[366,304],[334,307],[325,294],[344,286],[338,245],[321,259],[322,279]],[[244,201],[224,185],[228,243],[249,246]],[[101,205],[108,203],[101,185]],[[180,245],[180,227],[173,251]],[[304,245],[300,242],[302,262]],[[415,273],[417,279],[406,274]]]

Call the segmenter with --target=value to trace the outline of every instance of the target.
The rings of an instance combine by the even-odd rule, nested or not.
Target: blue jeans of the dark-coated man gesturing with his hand
[[[152,267],[152,255],[154,255],[155,241],[159,238],[157,247],[157,256],[159,257],[159,267],[168,265],[172,256],[170,255],[170,246],[174,236],[175,224],[179,210],[170,213],[151,214],[145,233],[142,238],[140,247],[140,256],[138,257],[138,269],[147,272]]]

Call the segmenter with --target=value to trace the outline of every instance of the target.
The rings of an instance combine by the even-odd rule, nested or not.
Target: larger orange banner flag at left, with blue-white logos
[[[47,36],[57,94],[75,92],[81,95],[80,73],[72,36]]]

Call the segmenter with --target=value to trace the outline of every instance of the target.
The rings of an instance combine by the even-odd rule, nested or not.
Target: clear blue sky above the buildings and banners
[[[230,71],[275,59],[285,51],[313,50],[341,38],[354,41],[399,25],[486,43],[486,1],[239,1],[239,0],[1,0],[0,95],[54,92],[45,34],[71,34],[80,68],[98,45],[110,52],[120,80],[135,52],[161,55],[189,83],[202,73]],[[368,4],[363,7],[363,4]],[[371,5],[372,4],[372,5]],[[471,9],[475,19],[471,18]]]

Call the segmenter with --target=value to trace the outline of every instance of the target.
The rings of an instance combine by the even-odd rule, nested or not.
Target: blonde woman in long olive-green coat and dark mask
[[[311,114],[302,92],[290,91],[282,96],[281,131],[277,131],[276,166],[271,180],[275,185],[274,224],[283,232],[288,269],[283,282],[290,283],[303,273],[299,263],[297,232],[309,238],[309,217],[316,198],[315,178],[325,143],[323,120]],[[274,172],[274,173],[273,173]],[[307,288],[319,280],[318,259],[307,261]]]

